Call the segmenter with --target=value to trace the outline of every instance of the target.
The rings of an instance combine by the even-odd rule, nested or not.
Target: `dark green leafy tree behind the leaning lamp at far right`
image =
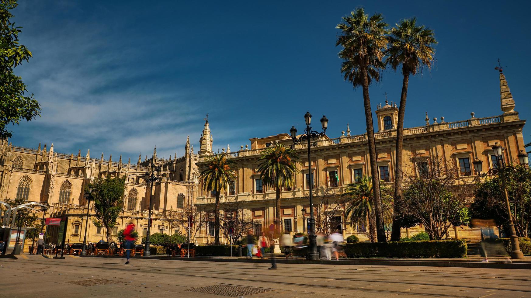
[[[520,237],[527,237],[531,224],[531,169],[517,165],[503,171],[516,233]],[[474,218],[494,219],[497,224],[508,228],[509,216],[500,176],[479,183],[475,197],[476,201],[472,205]]]

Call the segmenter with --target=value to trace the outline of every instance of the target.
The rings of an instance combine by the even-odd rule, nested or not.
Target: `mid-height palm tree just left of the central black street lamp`
[[[284,186],[294,187],[295,174],[299,172],[297,152],[282,144],[268,147],[261,152],[258,172],[263,184],[276,188],[275,227],[280,233],[280,191]]]

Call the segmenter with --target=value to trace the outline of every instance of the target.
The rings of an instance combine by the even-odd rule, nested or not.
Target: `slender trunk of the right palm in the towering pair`
[[[402,149],[404,145],[404,113],[406,112],[407,88],[409,75],[404,75],[402,81],[402,94],[400,95],[400,106],[398,108],[397,123],[397,146],[395,152],[395,203],[393,204],[393,225],[391,230],[391,241],[400,240],[400,223],[397,216],[400,212],[400,200],[402,198]]]

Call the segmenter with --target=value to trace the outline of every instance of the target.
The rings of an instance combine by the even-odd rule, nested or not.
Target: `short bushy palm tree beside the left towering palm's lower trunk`
[[[376,227],[374,202],[371,178],[364,176],[359,182],[350,183],[345,188],[341,197],[346,197],[345,216],[350,217],[350,222],[355,223],[362,220],[369,223],[369,235],[371,242],[376,241]]]

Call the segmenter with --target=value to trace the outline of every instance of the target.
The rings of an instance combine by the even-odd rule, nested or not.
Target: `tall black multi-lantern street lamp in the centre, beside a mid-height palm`
[[[311,148],[311,140],[316,138],[322,138],[326,134],[327,127],[328,127],[328,118],[323,115],[321,118],[321,126],[323,127],[322,132],[316,132],[312,130],[312,127],[310,127],[310,123],[312,122],[312,114],[310,112],[306,112],[304,115],[304,120],[306,122],[306,129],[304,130],[304,134],[301,135],[301,137],[297,138],[297,129],[295,126],[292,126],[292,129],[289,130],[290,134],[292,135],[292,140],[294,144],[302,143],[304,141],[308,142],[308,176],[310,178],[310,230],[308,231],[308,234],[310,235],[310,252],[309,257],[310,260],[319,260],[319,252],[317,252],[317,235],[315,235],[315,218],[313,217],[313,173],[312,173],[312,160],[310,157],[310,148]],[[306,223],[305,223],[306,224]]]

